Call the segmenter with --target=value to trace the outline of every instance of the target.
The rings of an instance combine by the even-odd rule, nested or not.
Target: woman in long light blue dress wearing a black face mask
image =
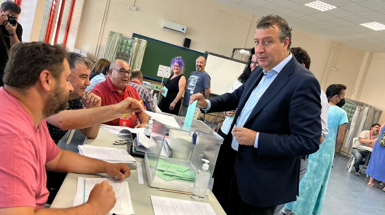
[[[295,202],[285,205],[283,213],[299,215],[320,215],[325,198],[331,165],[336,145],[343,142],[345,124],[348,117],[341,107],[345,103],[346,86],[332,84],[326,89],[329,101],[329,134],[320,145],[320,149],[309,156],[308,171],[300,182],[300,194]]]

